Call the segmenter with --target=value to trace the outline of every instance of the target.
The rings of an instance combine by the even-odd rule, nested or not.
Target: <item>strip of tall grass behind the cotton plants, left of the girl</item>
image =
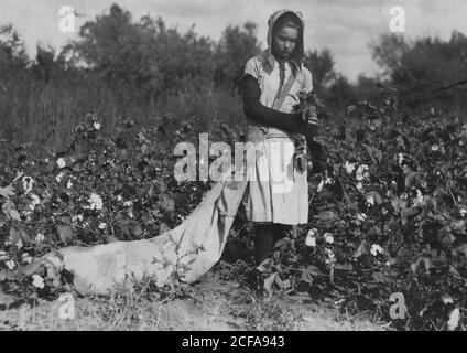
[[[245,125],[240,96],[226,88],[196,90],[187,84],[150,106],[126,103],[96,81],[63,77],[47,83],[28,75],[7,79],[8,90],[0,94],[0,149],[2,143],[17,142],[57,149],[88,113],[97,114],[104,130],[110,133],[116,132],[120,118],[154,125],[165,114],[172,115],[175,124],[195,116],[206,131],[218,122]]]

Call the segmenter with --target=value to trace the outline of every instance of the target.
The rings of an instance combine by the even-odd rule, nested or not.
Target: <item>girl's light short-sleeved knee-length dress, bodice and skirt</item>
[[[265,55],[263,53],[263,55]],[[267,58],[254,56],[250,58],[245,73],[258,79],[261,96],[260,103],[273,108],[280,86],[280,65],[273,61],[273,67]],[[292,64],[285,64],[284,79],[292,75]],[[298,103],[300,92],[313,90],[312,74],[303,65],[296,71],[296,78],[278,110],[293,113]],[[283,130],[249,122],[249,135],[263,132],[256,147],[262,154],[256,163],[249,165],[249,185],[245,195],[247,220],[261,223],[280,223],[287,225],[308,222],[308,184],[306,171],[294,168],[295,140],[304,137],[298,133],[287,133]]]

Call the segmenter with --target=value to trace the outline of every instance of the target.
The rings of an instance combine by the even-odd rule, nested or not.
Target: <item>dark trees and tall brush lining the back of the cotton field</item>
[[[37,44],[30,58],[12,24],[0,28],[0,119],[3,138],[56,143],[89,111],[108,128],[121,116],[151,122],[172,114],[197,116],[209,128],[242,125],[240,78],[246,61],[260,53],[256,24],[228,25],[219,41],[167,28],[163,19],[133,19],[118,4],[87,21],[61,50]],[[464,108],[467,38],[450,40],[381,35],[371,45],[381,68],[350,83],[335,68],[329,50],[305,56],[315,92],[335,111],[376,99],[378,84],[398,89],[408,108]],[[464,77],[467,78],[467,77]],[[459,83],[456,85],[456,83]],[[26,128],[25,128],[26,127]]]

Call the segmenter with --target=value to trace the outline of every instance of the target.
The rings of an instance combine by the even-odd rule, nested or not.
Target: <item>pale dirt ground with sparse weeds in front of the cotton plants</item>
[[[388,325],[368,317],[339,314],[333,302],[313,302],[304,295],[273,293],[258,298],[239,282],[209,272],[189,286],[186,298],[75,298],[73,320],[63,320],[58,300],[33,308],[0,311],[0,330],[292,330],[374,331]],[[1,299],[1,298],[0,298]]]

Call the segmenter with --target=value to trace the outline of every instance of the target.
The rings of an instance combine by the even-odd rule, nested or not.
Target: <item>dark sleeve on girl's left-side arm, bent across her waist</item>
[[[289,132],[304,133],[306,124],[302,120],[301,113],[282,113],[268,108],[260,103],[260,86],[258,81],[249,75],[242,78],[243,111],[253,121],[272,126]]]

